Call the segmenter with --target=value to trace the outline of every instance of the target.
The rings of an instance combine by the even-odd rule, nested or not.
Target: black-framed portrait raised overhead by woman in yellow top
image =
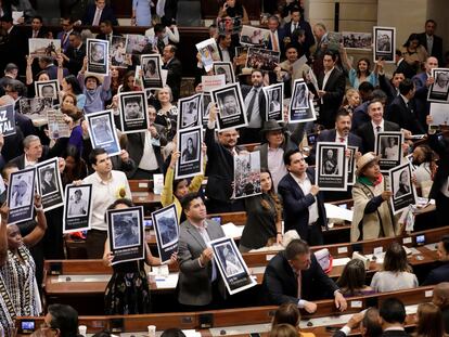
[[[203,173],[203,128],[201,126],[181,129],[177,133],[177,146],[181,153],[175,179],[195,177]]]

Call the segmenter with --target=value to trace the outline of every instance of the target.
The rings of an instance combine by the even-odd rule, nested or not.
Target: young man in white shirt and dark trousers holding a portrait
[[[87,234],[86,246],[89,259],[100,259],[107,236],[104,213],[116,199],[131,199],[131,190],[125,173],[112,169],[111,158],[104,148],[92,150],[89,161],[95,172],[82,180],[82,183],[92,184],[91,230]]]

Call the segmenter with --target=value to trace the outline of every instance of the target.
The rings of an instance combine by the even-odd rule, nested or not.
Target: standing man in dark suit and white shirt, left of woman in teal
[[[323,56],[324,70],[318,75],[318,95],[320,102],[319,121],[326,129],[332,129],[335,115],[345,94],[345,75],[335,67],[336,54],[326,51]]]

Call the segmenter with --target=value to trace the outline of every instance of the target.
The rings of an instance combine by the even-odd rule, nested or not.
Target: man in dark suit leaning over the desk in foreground
[[[337,285],[323,272],[303,239],[293,239],[270,260],[262,286],[271,304],[295,303],[312,313],[317,310],[312,300],[334,297],[337,309],[344,311],[347,307]]]

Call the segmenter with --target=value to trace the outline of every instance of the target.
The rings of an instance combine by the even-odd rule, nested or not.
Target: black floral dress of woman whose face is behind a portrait
[[[150,286],[144,260],[117,263],[113,269],[104,294],[105,314],[150,313]]]

